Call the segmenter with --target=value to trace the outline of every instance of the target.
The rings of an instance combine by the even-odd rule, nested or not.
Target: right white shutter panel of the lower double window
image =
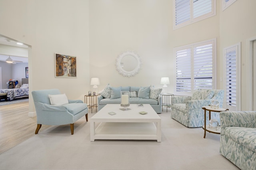
[[[212,89],[212,44],[194,47],[194,90]]]

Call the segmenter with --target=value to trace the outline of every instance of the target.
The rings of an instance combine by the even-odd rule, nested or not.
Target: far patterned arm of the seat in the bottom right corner
[[[220,112],[221,127],[256,128],[256,111]]]

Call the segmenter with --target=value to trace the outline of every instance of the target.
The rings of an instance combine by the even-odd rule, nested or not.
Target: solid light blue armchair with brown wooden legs
[[[68,100],[68,104],[51,105],[48,95],[59,95],[58,89],[32,91],[36,108],[38,133],[42,125],[70,124],[71,134],[74,134],[74,123],[85,115],[88,121],[88,108],[81,100]]]

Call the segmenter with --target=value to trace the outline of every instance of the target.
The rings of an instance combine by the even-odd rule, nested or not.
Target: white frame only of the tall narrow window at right
[[[226,89],[226,53],[228,50],[236,49],[236,107],[228,105],[226,101],[227,97],[227,89]],[[241,110],[241,42],[231,45],[229,47],[225,47],[223,49],[223,58],[224,58],[224,106],[232,111],[240,111]]]

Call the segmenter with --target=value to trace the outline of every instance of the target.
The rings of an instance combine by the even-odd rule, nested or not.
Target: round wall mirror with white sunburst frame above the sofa
[[[140,55],[134,51],[124,51],[116,58],[116,70],[124,77],[135,76],[142,65]]]

